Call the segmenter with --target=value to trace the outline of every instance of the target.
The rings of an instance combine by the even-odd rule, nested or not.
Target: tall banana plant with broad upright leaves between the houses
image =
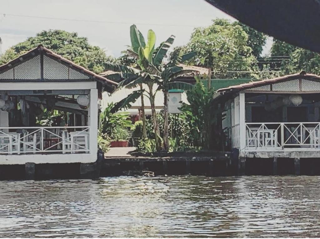
[[[160,46],[155,50],[156,35],[152,30],[148,31],[148,41],[144,40],[143,35],[137,29],[135,25],[130,27],[130,38],[131,38],[131,49],[128,49],[128,55],[137,60],[137,65],[140,70],[128,67],[120,64],[106,64],[106,68],[113,71],[120,71],[124,80],[120,82],[119,86],[126,86],[128,88],[140,85],[140,91],[142,90],[142,84],[146,84],[148,87],[147,97],[150,100],[151,114],[153,121],[153,128],[156,141],[157,151],[163,149],[162,142],[164,142],[164,149],[168,150],[168,115],[166,113],[165,127],[166,134],[164,141],[160,137],[159,133],[159,123],[156,117],[155,108],[155,95],[156,91],[164,91],[164,109],[167,110],[167,99],[168,99],[168,89],[170,87],[169,81],[172,78],[178,77],[181,74],[186,73],[182,67],[177,66],[179,63],[190,59],[194,56],[194,53],[188,53],[187,55],[178,54],[177,57],[172,59],[169,63],[164,64],[163,60],[166,57],[168,49],[171,47],[174,36],[170,36],[166,41],[160,44]],[[190,72],[190,71],[188,71]],[[181,83],[183,84],[183,83]],[[188,85],[188,84],[186,84]],[[190,88],[190,85],[188,86]],[[142,97],[143,99],[143,97]],[[143,102],[142,102],[143,103]],[[144,106],[142,105],[142,108]],[[144,120],[144,119],[143,119]],[[145,123],[143,123],[145,125]],[[145,127],[144,127],[145,128]],[[144,133],[146,136],[146,133]]]

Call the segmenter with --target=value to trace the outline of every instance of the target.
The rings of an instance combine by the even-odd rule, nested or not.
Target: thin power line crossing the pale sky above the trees
[[[19,14],[7,14],[0,13],[0,15],[11,16],[11,17],[22,17],[22,18],[37,18],[37,19],[49,19],[49,20],[62,20],[62,21],[75,21],[75,22],[92,22],[92,23],[109,23],[109,24],[124,24],[131,25],[132,22],[115,22],[115,21],[99,21],[99,20],[84,20],[84,19],[70,19],[70,18],[52,18],[42,16],[31,16],[31,15],[19,15]],[[176,25],[176,24],[159,24],[159,23],[135,23],[137,25],[153,25],[153,26],[187,26],[187,27],[201,27],[198,25]]]

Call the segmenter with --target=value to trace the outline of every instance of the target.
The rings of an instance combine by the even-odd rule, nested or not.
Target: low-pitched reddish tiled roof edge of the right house
[[[252,81],[249,83],[240,84],[240,85],[236,85],[236,86],[229,86],[226,88],[221,88],[221,89],[217,90],[217,92],[218,93],[228,93],[231,91],[234,92],[234,91],[246,90],[246,89],[255,88],[258,86],[265,86],[265,85],[269,85],[269,84],[289,81],[289,80],[293,80],[293,79],[301,79],[301,78],[311,79],[311,80],[312,79],[313,80],[320,80],[320,76],[318,76],[318,75],[309,74],[309,73],[306,73],[305,71],[301,71],[300,73],[285,75],[285,76],[276,77],[276,78],[272,78],[272,79]]]

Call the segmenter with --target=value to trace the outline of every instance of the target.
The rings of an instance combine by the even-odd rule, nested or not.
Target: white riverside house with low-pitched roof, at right
[[[222,127],[240,157],[315,158],[320,153],[320,76],[307,74],[219,89]]]

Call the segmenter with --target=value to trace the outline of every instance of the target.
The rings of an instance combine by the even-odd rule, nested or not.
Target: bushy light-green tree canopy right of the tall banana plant
[[[253,38],[254,34],[250,39]],[[263,39],[261,37],[261,44],[265,41]],[[223,78],[228,76],[227,71],[252,71],[256,57],[250,44],[252,45],[249,35],[241,24],[216,19],[211,26],[196,28],[187,45],[175,49],[171,56],[175,56],[177,51],[195,51],[196,57],[190,60],[189,64],[211,67],[215,77]],[[258,46],[253,47],[257,54],[261,52]],[[260,47],[262,49],[262,45]],[[243,77],[243,72],[240,75]],[[232,74],[232,77],[239,77],[239,74]]]

